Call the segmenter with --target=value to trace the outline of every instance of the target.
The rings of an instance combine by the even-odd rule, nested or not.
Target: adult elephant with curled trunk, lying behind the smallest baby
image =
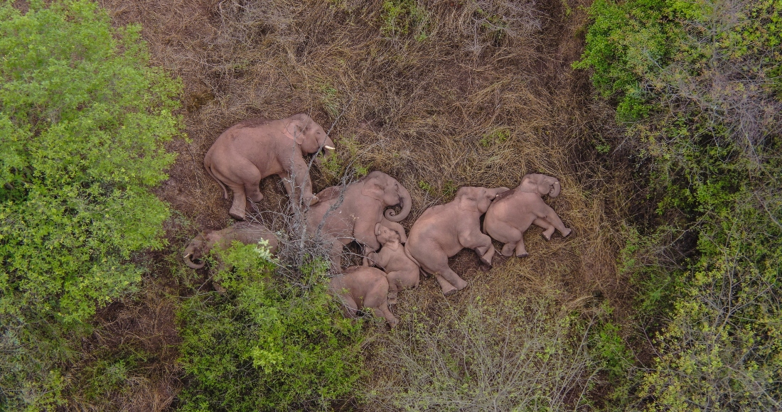
[[[380,248],[375,237],[378,223],[398,231],[403,243],[407,240],[404,227],[397,222],[410,214],[410,192],[388,174],[374,171],[346,187],[325,188],[317,197],[320,202],[307,212],[307,231],[330,245],[335,271],[342,267],[343,245],[355,240],[364,246],[364,256]],[[401,206],[402,210],[396,214],[386,210],[390,206]]]

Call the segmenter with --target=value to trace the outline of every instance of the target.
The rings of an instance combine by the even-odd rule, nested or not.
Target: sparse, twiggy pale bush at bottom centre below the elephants
[[[413,312],[378,338],[393,371],[365,394],[371,410],[580,410],[600,363],[589,326],[544,297],[476,298],[442,317]],[[378,380],[378,378],[375,378]]]

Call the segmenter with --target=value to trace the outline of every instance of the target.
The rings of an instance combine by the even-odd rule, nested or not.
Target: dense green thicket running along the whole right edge
[[[777,410],[782,2],[598,0],[590,14],[576,66],[616,99],[662,217],[652,235],[631,230],[629,245],[697,235],[624,253],[640,309],[666,309],[638,399],[650,396],[649,410]],[[658,264],[666,253],[678,256],[669,267]]]

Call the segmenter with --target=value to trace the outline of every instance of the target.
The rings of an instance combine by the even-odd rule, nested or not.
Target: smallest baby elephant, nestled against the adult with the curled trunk
[[[404,231],[404,228],[402,229]],[[404,232],[403,232],[404,234]],[[402,289],[418,288],[421,269],[418,263],[405,253],[400,234],[382,224],[375,225],[375,235],[383,245],[378,253],[370,253],[369,263],[382,267],[389,280],[389,303],[396,303],[396,296]]]

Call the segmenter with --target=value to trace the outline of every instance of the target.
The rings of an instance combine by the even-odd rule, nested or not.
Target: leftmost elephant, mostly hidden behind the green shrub
[[[240,222],[220,231],[206,230],[198,236],[195,236],[195,239],[193,239],[188,247],[185,248],[185,256],[183,256],[185,264],[193,269],[200,269],[206,262],[195,263],[195,260],[199,260],[208,255],[210,250],[215,246],[226,249],[230,247],[231,242],[235,240],[238,240],[245,245],[266,240],[269,242],[268,247],[271,253],[274,253],[277,250],[278,245],[277,236],[263,224]]]

